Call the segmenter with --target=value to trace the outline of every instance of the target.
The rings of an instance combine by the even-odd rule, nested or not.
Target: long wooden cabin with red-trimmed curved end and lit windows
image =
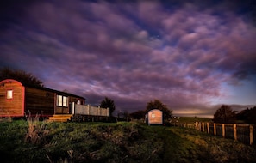
[[[25,113],[72,114],[75,104],[83,105],[84,97],[53,90],[27,86],[13,79],[0,82],[0,117],[22,117]]]

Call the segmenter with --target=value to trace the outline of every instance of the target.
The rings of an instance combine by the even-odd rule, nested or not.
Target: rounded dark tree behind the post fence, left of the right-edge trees
[[[216,110],[213,120],[215,123],[234,123],[235,116],[235,112],[230,106],[222,105]]]

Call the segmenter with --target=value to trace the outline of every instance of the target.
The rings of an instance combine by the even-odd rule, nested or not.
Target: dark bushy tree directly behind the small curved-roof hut
[[[153,100],[147,103],[146,112],[153,109],[159,109],[163,112],[164,121],[168,121],[170,118],[172,118],[172,111],[169,110],[168,107],[164,105],[160,100]]]

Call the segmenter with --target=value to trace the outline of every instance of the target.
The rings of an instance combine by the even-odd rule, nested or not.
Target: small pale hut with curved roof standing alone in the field
[[[148,125],[151,124],[163,124],[163,112],[159,109],[153,109],[147,112],[146,116],[146,123]]]

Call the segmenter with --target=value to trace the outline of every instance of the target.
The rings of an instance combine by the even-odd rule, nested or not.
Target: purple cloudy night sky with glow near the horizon
[[[207,2],[207,3],[206,3]],[[158,99],[176,115],[256,105],[256,4],[232,1],[9,1],[0,68],[117,111]]]

